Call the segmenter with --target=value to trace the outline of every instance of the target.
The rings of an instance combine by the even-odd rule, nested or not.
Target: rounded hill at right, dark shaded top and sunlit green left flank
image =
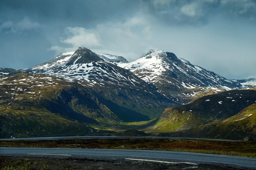
[[[229,90],[167,108],[148,128],[156,132],[175,132],[214,121],[225,120],[256,102],[256,90]]]

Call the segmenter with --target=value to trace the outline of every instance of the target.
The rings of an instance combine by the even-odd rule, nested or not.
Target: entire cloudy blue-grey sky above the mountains
[[[0,67],[80,46],[128,61],[159,48],[228,79],[256,78],[256,0],[0,2]]]

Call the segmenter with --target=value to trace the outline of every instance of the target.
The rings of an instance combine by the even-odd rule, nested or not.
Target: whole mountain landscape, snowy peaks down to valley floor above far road
[[[160,49],[128,62],[79,47],[0,72],[1,138],[114,136],[127,129],[234,140],[256,135],[255,79],[228,80]]]

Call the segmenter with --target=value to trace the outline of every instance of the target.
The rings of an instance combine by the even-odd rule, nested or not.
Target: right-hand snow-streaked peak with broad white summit
[[[246,80],[228,80],[161,49],[150,50],[124,68],[155,85],[159,93],[182,103],[199,94],[245,88],[248,84]]]

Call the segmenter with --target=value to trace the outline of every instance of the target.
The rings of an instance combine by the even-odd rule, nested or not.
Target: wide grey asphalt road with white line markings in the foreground
[[[166,161],[168,163],[226,164],[256,168],[256,159],[238,156],[188,153],[157,150],[118,150],[118,149],[63,149],[63,148],[0,148],[1,156],[47,156],[87,159],[130,159],[132,161]],[[137,159],[137,160],[136,160]]]

